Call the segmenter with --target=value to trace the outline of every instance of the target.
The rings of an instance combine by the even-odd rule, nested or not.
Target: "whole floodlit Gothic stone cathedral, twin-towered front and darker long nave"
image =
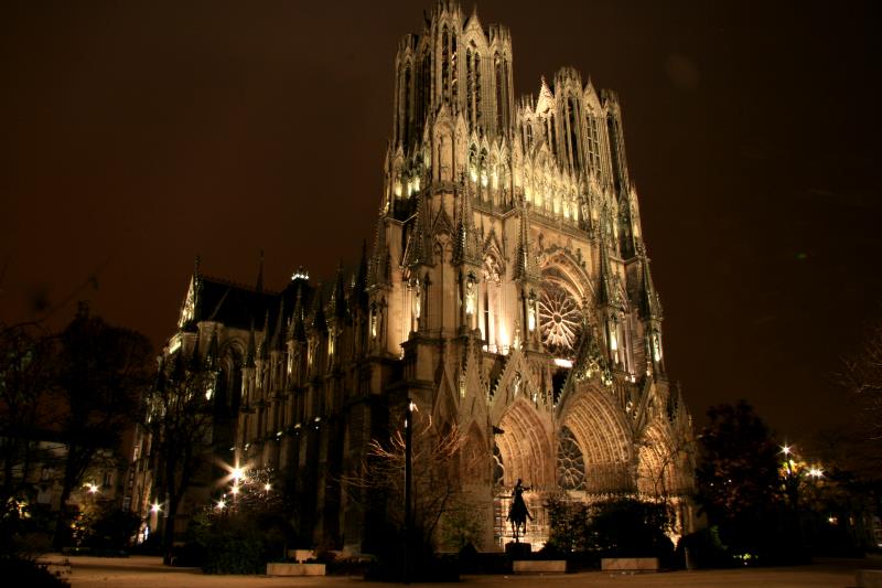
[[[398,45],[361,263],[324,285],[298,269],[281,291],[198,264],[190,279],[164,355],[216,366],[218,455],[283,475],[314,545],[369,550],[357,480],[410,410],[420,434],[456,437],[443,478],[480,549],[510,541],[518,480],[534,545],[555,493],[664,498],[691,530],[690,416],[665,368],[619,98],[571,67],[515,97],[512,55],[508,29],[440,0]]]

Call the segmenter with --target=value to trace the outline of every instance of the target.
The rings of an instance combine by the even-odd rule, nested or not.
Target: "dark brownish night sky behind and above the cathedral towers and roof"
[[[281,288],[370,239],[398,40],[431,0],[3,2],[0,320],[86,299],[157,346],[196,255]],[[471,11],[472,4],[464,8]],[[482,1],[518,94],[572,65],[621,98],[666,361],[697,424],[747,398],[842,421],[882,320],[873,2]],[[47,317],[46,317],[47,316]]]

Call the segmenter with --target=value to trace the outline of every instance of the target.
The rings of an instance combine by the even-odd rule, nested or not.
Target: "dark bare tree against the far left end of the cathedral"
[[[164,499],[163,562],[171,564],[174,520],[181,499],[212,449],[211,398],[216,374],[198,362],[185,365],[181,353],[161,365],[157,384],[144,397],[142,426],[151,436],[155,492]]]

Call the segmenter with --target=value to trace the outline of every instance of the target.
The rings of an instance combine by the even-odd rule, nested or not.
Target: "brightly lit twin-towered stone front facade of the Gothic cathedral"
[[[509,31],[451,1],[395,70],[370,353],[400,357],[407,394],[488,458],[463,475],[472,496],[504,501],[518,478],[688,494],[690,417],[665,371],[615,94],[564,67],[516,101]]]

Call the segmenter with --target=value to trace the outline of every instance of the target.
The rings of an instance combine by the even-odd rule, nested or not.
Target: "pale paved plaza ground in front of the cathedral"
[[[357,577],[329,576],[319,578],[270,578],[266,576],[206,576],[197,569],[169,568],[158,557],[133,556],[127,558],[50,556],[65,573],[74,588],[330,588],[347,586],[369,588],[386,586]],[[69,562],[69,566],[64,565]],[[856,586],[854,571],[860,568],[882,568],[882,559],[829,559],[809,566],[752,569],[721,569],[699,571],[668,571],[657,574],[609,574],[585,571],[548,576],[464,576],[460,585],[492,587],[544,588],[631,588],[631,587],[761,587],[811,588]],[[438,586],[415,584],[412,586]]]

